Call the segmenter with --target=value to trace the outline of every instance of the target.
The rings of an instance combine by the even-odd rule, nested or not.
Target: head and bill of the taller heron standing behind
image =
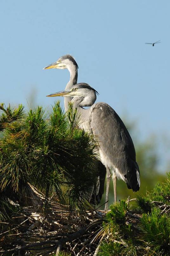
[[[49,68],[59,68],[59,69],[67,68],[68,69],[71,65],[78,68],[78,65],[77,65],[74,57],[69,54],[66,54],[66,55],[60,57],[56,62],[50,64],[49,66],[47,66],[43,69],[49,69]]]

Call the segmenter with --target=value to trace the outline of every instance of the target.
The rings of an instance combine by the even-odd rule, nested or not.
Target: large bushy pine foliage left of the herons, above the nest
[[[69,210],[88,208],[96,181],[95,143],[77,129],[79,115],[71,104],[63,113],[57,102],[48,117],[39,106],[26,113],[22,105],[1,104],[0,110],[0,219],[30,204],[31,186],[46,202],[53,195]]]

